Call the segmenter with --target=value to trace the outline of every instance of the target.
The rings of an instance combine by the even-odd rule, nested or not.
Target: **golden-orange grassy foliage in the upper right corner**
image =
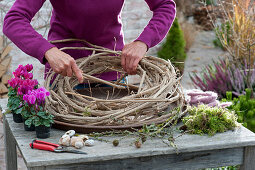
[[[220,44],[236,62],[253,63],[255,57],[255,4],[251,0],[218,1],[221,26],[214,23]],[[213,17],[213,16],[212,16]]]

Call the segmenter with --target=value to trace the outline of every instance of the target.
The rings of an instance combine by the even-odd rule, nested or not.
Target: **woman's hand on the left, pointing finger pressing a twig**
[[[54,47],[45,53],[45,58],[48,60],[54,72],[68,77],[72,77],[74,74],[79,83],[83,82],[82,71],[78,68],[75,60],[70,55]]]

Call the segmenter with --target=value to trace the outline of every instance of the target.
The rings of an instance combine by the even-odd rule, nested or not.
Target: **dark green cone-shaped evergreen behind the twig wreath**
[[[186,59],[185,40],[177,18],[168,32],[166,42],[158,51],[158,56],[165,60],[170,60],[183,72],[184,61]]]

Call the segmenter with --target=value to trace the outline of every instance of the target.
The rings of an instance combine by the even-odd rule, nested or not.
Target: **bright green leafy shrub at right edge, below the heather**
[[[233,104],[228,109],[238,115],[237,121],[255,132],[255,99],[251,98],[251,89],[246,89],[246,94],[232,99],[232,92],[227,92],[227,98],[222,101],[231,101]]]

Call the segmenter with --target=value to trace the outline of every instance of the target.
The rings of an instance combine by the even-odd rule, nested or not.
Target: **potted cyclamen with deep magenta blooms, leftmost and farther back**
[[[13,114],[13,120],[16,123],[23,122],[22,112],[22,96],[29,90],[37,88],[37,80],[32,80],[33,65],[27,64],[26,66],[19,65],[13,72],[14,78],[8,81],[8,110]]]

